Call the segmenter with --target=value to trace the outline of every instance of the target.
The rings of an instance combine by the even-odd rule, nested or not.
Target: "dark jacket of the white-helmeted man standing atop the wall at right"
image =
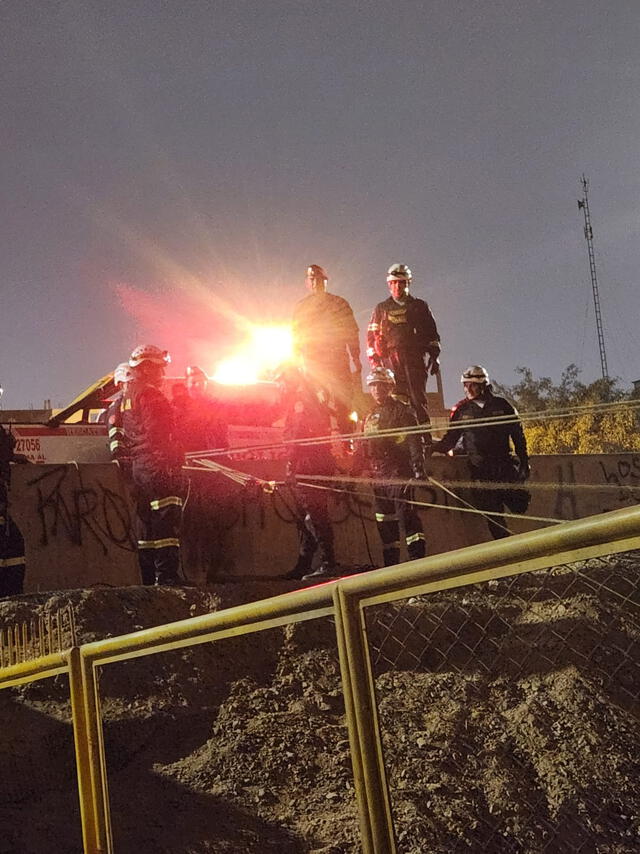
[[[374,308],[367,330],[367,356],[372,364],[380,364],[391,353],[416,363],[424,363],[427,354],[434,359],[439,356],[440,336],[424,300],[409,295],[400,304],[389,297]]]

